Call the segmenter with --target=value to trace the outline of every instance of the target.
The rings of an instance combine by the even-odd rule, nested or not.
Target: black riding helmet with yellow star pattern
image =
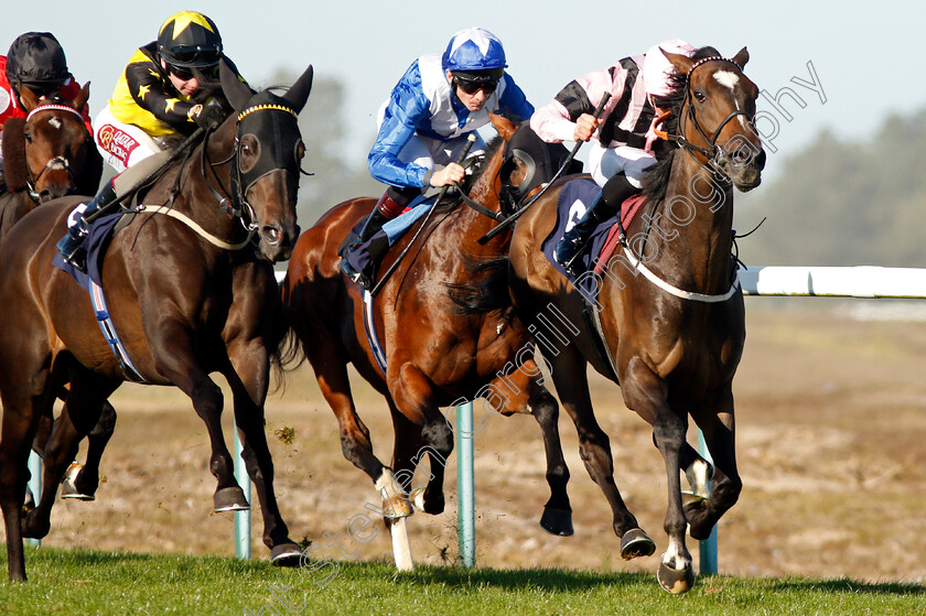
[[[203,13],[181,11],[161,25],[158,52],[171,66],[206,68],[222,57],[222,36]]]

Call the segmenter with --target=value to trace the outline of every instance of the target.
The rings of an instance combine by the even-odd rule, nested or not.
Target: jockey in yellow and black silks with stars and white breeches
[[[79,208],[72,214],[68,233],[57,244],[65,261],[84,270],[83,241],[90,229],[87,218],[119,198],[117,187],[134,187],[136,181],[157,170],[197,127],[212,130],[225,120],[229,106],[218,83],[218,64],[224,57],[215,22],[195,11],[168,18],[158,40],[131,56],[94,126],[103,159],[120,174],[128,167],[132,172],[108,182],[83,214]],[[235,69],[228,58],[225,62]],[[146,164],[136,166],[140,161]]]

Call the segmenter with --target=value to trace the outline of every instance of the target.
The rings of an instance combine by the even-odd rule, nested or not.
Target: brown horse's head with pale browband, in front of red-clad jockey
[[[17,171],[24,172],[23,186],[39,203],[75,192],[93,194],[96,191],[99,174],[86,183],[80,182],[83,172],[91,166],[88,164],[90,159],[98,158],[80,115],[90,95],[89,86],[87,83],[73,101],[39,100],[29,88],[20,88],[20,98],[29,115],[22,125],[8,122],[4,143],[7,139],[19,141],[15,133],[21,130],[22,149],[17,150],[23,161],[10,161],[7,166],[14,175]],[[101,165],[97,166],[101,171]],[[10,185],[18,183],[11,181]]]

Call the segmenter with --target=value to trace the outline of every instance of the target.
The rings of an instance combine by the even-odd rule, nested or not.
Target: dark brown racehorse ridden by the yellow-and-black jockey
[[[0,247],[0,507],[11,580],[25,580],[22,537],[42,537],[64,466],[96,423],[101,403],[127,380],[186,393],[209,434],[216,510],[248,507],[235,480],[220,413],[227,380],[244,458],[263,514],[263,542],[276,564],[301,554],[288,537],[273,493],[263,433],[272,315],[271,262],[289,258],[299,235],[295,202],[304,144],[297,125],[312,84],[310,66],[284,96],[255,94],[222,63],[222,86],[237,111],[151,186],[146,203],[109,241],[100,266],[112,325],[125,356],[100,333],[88,293],[52,264],[75,197],[49,202]],[[97,223],[99,225],[100,221]],[[93,273],[93,268],[91,268]],[[23,519],[26,457],[39,419],[71,382],[45,454],[39,506]]]

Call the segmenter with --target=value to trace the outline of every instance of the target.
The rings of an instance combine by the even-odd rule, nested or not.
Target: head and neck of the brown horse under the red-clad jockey
[[[0,241],[37,205],[65,195],[94,195],[103,158],[79,109],[90,96],[86,84],[73,101],[40,101],[21,88],[25,118],[3,125],[7,193],[0,194]]]

